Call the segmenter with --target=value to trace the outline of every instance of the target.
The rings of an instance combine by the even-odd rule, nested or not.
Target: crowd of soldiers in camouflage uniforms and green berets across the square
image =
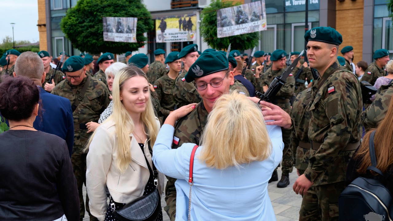
[[[283,75],[288,64],[301,56],[286,78],[286,83],[270,98],[272,104],[284,110],[292,119],[291,127],[282,127],[282,175],[277,187],[285,188],[290,184],[289,173],[295,165],[299,178],[293,189],[303,195],[299,220],[337,220],[338,196],[345,188],[347,164],[360,145],[362,125],[365,129],[375,128],[384,118],[393,94],[393,83],[390,82],[380,88],[374,102],[365,106],[364,110],[360,81],[374,85],[378,77],[386,76],[384,66],[389,61],[389,53],[384,49],[376,50],[373,55],[375,62],[362,69],[360,63],[356,66],[352,63],[351,46],[345,46],[340,51],[343,59],[341,56],[337,58],[342,36],[335,29],[313,28],[305,33],[305,40],[308,42],[307,57],[301,52],[290,52],[288,56],[284,50],[272,53],[257,51],[252,58],[245,53],[241,54],[239,50],[230,50],[228,55],[214,49],[201,53],[197,44],[190,44],[180,52],[171,52],[167,56],[164,50],[155,50],[155,61],[150,65],[145,54],[132,55],[127,52],[126,63],[138,66],[147,75],[154,108],[161,123],[171,111],[198,103],[195,111],[179,120],[175,126],[172,147],[177,148],[185,142],[200,145],[200,134],[213,107],[202,96],[207,97],[210,89],[219,88],[222,79],[221,82],[220,79],[217,82],[212,80],[206,85],[210,89],[206,90],[198,90],[199,86],[193,80],[206,75],[209,66],[222,65],[214,59],[217,55],[223,54],[228,59],[226,76],[233,77],[230,90],[251,97],[255,96],[255,90],[262,94],[266,92],[274,78]],[[13,76],[19,55],[17,50],[4,53],[0,59],[1,76]],[[91,135],[86,124],[98,122],[100,114],[110,102],[105,70],[114,63],[114,55],[103,53],[96,61],[99,70],[94,75],[91,72],[94,68],[93,57],[90,55],[65,56],[65,62],[56,72],[51,67],[48,52],[41,51],[38,55],[48,73],[42,88],[67,98],[72,105],[74,143],[71,160],[80,193],[82,220],[85,211],[82,186],[86,182],[87,155],[82,149]],[[211,62],[201,62],[198,60],[200,56],[204,57],[203,61]],[[252,59],[251,65],[243,71],[248,59]],[[354,73],[358,68],[364,72],[361,78],[356,76],[358,73]],[[52,82],[49,82],[50,79]],[[212,97],[211,103],[215,99]],[[167,178],[167,205],[164,209],[173,221],[176,216],[176,180]],[[278,178],[275,169],[269,182],[277,181]],[[86,194],[86,211],[90,220],[95,220],[89,212],[88,201]]]

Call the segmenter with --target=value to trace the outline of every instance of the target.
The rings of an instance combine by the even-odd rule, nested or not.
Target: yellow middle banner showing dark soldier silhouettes
[[[156,42],[195,41],[196,14],[156,18]]]

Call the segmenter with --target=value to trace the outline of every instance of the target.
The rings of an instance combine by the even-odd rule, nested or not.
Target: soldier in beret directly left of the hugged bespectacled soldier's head
[[[187,83],[185,81],[185,75],[191,65],[196,61],[197,55],[198,45],[196,44],[190,44],[184,47],[179,53],[179,58],[182,59],[182,62],[184,63],[184,70],[177,77],[172,89],[176,109],[189,105],[190,103],[199,103],[199,101],[201,101],[195,86],[192,83]]]

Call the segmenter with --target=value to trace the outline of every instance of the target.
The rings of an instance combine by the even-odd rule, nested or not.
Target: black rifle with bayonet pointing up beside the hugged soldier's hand
[[[280,77],[275,77],[272,83],[269,85],[268,90],[264,94],[259,91],[256,91],[255,94],[260,98],[259,102],[267,101],[271,102],[272,98],[279,92],[281,87],[286,83],[286,78],[292,72],[292,70],[296,67],[296,64],[299,62],[301,55],[303,55],[304,50],[300,53],[300,55],[294,60],[294,62],[287,68],[283,75]]]

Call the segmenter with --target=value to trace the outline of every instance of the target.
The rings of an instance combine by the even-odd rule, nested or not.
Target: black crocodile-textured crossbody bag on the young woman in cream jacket
[[[151,145],[149,145],[149,151],[153,156]],[[151,220],[155,220],[158,217],[158,214],[160,214],[161,199],[157,187],[158,171],[156,169],[156,166],[154,166],[153,162],[152,162],[153,165],[153,170],[152,170],[146,156],[145,159],[147,162],[147,168],[149,168],[150,174],[153,175],[154,186],[156,186],[156,188],[154,188],[153,192],[138,197],[134,201],[125,204],[123,208],[119,210],[115,209],[115,203],[112,197],[109,197],[110,199],[109,203],[110,203],[110,207],[113,210],[113,214],[117,219],[121,221],[151,221]]]

